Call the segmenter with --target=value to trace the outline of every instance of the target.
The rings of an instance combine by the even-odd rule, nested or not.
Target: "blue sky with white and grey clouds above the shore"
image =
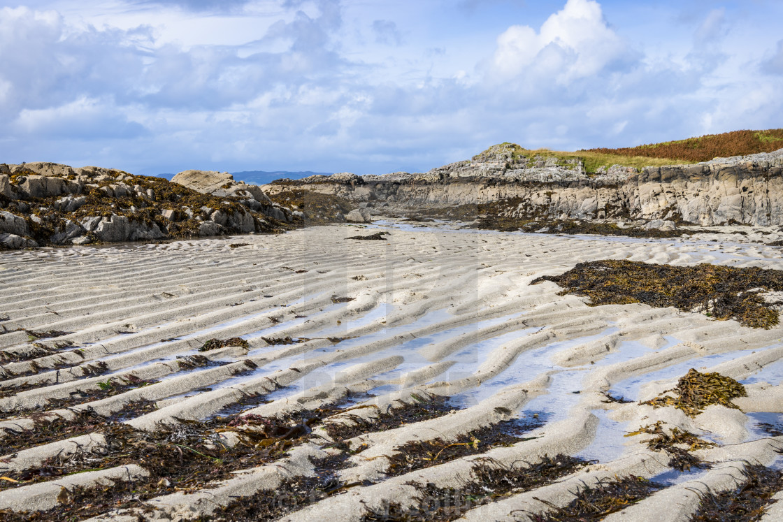
[[[0,162],[420,172],[783,127],[780,0],[0,0]]]

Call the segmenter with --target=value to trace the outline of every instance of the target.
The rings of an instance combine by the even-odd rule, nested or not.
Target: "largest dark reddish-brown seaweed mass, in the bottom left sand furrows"
[[[104,452],[56,455],[38,469],[5,473],[0,488],[18,488],[52,477],[130,463],[143,466],[150,473],[148,477],[139,477],[133,484],[117,481],[108,486],[63,490],[63,502],[55,509],[37,514],[0,510],[0,518],[82,520],[109,509],[137,507],[139,502],[172,491],[208,487],[214,481],[232,477],[233,471],[283,458],[291,448],[308,441],[312,426],[332,412],[330,408],[316,409],[279,419],[254,415],[218,417],[204,422],[180,419],[178,424],[160,425],[154,432],[104,419],[103,425],[95,430],[106,437]],[[226,445],[224,432],[236,434],[238,443]]]

